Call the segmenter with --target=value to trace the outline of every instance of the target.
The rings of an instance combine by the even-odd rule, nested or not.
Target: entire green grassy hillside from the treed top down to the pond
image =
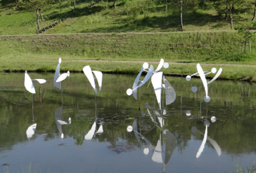
[[[242,53],[242,37],[230,29],[230,21],[209,4],[184,7],[184,29],[180,30],[179,6],[165,1],[62,1],[42,11],[46,27],[72,14],[56,27],[36,35],[36,15],[16,7],[1,7],[0,71],[54,71],[62,57],[63,71],[81,72],[85,65],[114,73],[137,73],[141,63],[79,62],[80,60],[142,61],[215,64],[256,64],[255,44],[252,54]],[[235,6],[234,27],[249,25],[253,1]],[[175,31],[175,32],[173,32]],[[93,33],[92,33],[93,32]],[[73,60],[75,60],[73,62]],[[155,64],[156,65],[156,64]],[[215,65],[218,68],[223,65]],[[195,65],[175,64],[166,72],[187,75]],[[210,70],[214,65],[204,65]],[[254,66],[225,67],[222,78],[256,80]]]

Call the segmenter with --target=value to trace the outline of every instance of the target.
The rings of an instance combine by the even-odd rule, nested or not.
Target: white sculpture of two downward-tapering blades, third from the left
[[[92,88],[94,88],[95,94],[97,95],[97,89],[96,89],[96,85],[95,85],[95,80],[94,80],[94,76],[92,73],[94,73],[98,84],[99,84],[99,90],[101,91],[101,86],[102,86],[102,72],[99,71],[92,71],[91,67],[89,65],[87,65],[86,67],[82,68],[82,71],[84,72],[84,74],[86,75],[86,77],[88,78],[89,82],[92,85]]]

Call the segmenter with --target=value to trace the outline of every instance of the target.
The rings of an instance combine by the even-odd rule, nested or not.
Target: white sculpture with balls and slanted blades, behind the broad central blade
[[[129,88],[126,91],[127,95],[133,95],[135,100],[137,100],[137,88],[139,88],[139,110],[140,110],[140,87],[142,87],[142,85],[144,85],[149,80],[149,78],[152,77],[153,74],[159,72],[162,67],[164,67],[164,68],[169,67],[169,63],[167,63],[167,62],[164,63],[164,59],[162,59],[162,58],[159,62],[159,65],[157,66],[157,68],[155,70],[154,70],[153,65],[150,65],[150,68],[149,68],[149,64],[147,62],[145,62],[142,65],[142,67],[140,68],[139,74],[135,78],[134,85],[132,86],[132,89]],[[146,69],[148,69],[148,70],[146,70]],[[147,72],[147,75],[145,75],[143,80],[139,80],[140,75],[142,74],[142,72]],[[152,81],[152,84],[153,84],[153,86],[155,85],[155,87],[158,87],[157,86],[158,83],[155,82],[155,80]]]

